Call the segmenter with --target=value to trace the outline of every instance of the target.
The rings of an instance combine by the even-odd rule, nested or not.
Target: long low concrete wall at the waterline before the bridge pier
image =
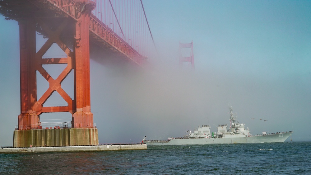
[[[40,152],[72,152],[72,151],[114,151],[114,150],[143,150],[146,144],[117,144],[91,146],[58,146],[58,147],[24,147],[0,148],[1,153],[40,153]]]

